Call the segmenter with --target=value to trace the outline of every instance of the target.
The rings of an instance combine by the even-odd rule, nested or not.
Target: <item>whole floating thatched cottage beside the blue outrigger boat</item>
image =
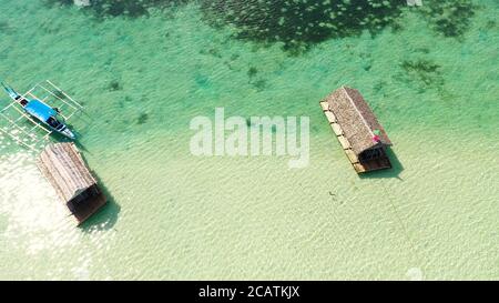
[[[78,221],[83,223],[106,202],[73,143],[48,145],[38,166]]]

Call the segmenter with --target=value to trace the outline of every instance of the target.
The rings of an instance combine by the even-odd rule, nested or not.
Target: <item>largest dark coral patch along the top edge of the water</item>
[[[205,19],[215,27],[231,26],[238,37],[261,42],[283,42],[306,50],[329,38],[376,33],[395,23],[404,3],[396,0],[206,0]]]

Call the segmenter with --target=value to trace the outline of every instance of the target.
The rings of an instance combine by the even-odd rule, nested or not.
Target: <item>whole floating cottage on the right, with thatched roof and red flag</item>
[[[391,168],[391,141],[358,90],[342,87],[320,107],[357,173]]]

